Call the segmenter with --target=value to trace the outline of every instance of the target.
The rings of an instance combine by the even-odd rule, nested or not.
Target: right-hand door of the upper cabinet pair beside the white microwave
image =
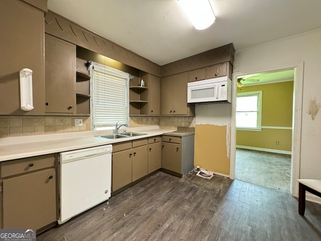
[[[173,76],[173,114],[188,114],[187,80],[187,72]]]

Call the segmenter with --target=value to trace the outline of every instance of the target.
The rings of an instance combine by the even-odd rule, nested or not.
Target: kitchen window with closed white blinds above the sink
[[[129,74],[111,67],[91,63],[92,127],[114,127],[117,122],[129,124]]]

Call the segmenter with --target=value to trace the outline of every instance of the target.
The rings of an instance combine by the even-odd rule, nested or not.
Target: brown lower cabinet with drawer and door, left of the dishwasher
[[[58,219],[54,154],[0,163],[1,228],[40,229]]]

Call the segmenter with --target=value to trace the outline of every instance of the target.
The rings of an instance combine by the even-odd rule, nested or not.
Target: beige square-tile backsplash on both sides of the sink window
[[[83,126],[75,127],[75,119]],[[195,117],[132,116],[129,127],[159,126],[176,130],[177,127],[195,127]],[[90,131],[90,117],[83,116],[0,116],[0,137],[28,136],[52,133]]]

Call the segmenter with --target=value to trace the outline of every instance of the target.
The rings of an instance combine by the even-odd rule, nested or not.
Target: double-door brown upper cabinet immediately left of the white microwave
[[[187,103],[188,72],[161,79],[162,115],[194,115],[194,105]]]

